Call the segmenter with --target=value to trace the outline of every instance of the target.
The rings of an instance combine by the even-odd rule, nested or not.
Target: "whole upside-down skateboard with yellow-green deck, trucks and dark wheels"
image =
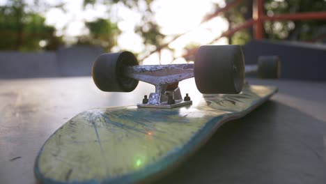
[[[204,45],[194,64],[138,66],[131,52],[102,54],[93,80],[102,91],[130,92],[138,81],[155,93],[127,107],[100,107],[71,118],[45,141],[34,172],[41,183],[152,182],[176,168],[224,123],[245,116],[276,86],[253,86],[244,74],[279,77],[279,59],[265,56],[244,66],[238,45]],[[195,78],[203,96],[192,105],[178,82]]]

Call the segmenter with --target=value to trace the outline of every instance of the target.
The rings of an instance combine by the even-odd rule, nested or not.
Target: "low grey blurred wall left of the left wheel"
[[[91,75],[100,47],[61,47],[56,52],[0,52],[0,79]]]

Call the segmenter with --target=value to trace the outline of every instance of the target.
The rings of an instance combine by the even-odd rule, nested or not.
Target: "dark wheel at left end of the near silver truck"
[[[133,91],[139,81],[123,75],[123,67],[135,65],[138,61],[131,52],[102,54],[93,63],[93,81],[102,91]]]

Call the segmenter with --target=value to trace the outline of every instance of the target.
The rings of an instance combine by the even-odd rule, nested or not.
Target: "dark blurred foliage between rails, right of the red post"
[[[285,0],[265,1],[267,15],[284,13],[304,13],[325,11],[325,0]],[[274,40],[316,40],[322,34],[325,36],[325,20],[266,22],[264,24],[267,38]],[[318,41],[318,39],[316,40]]]

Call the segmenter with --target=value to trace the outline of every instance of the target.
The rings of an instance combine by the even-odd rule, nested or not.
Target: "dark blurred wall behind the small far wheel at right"
[[[258,56],[278,55],[281,78],[326,81],[326,46],[308,43],[252,41],[243,46],[246,63],[257,63]]]

